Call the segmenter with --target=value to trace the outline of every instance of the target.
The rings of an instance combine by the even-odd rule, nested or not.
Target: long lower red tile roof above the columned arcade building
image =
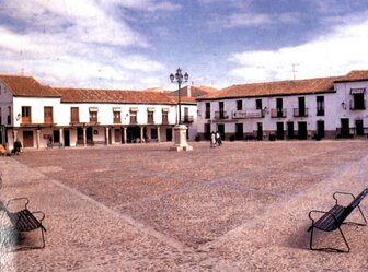
[[[173,99],[158,92],[55,88],[64,103],[126,103],[126,104],[175,104]]]

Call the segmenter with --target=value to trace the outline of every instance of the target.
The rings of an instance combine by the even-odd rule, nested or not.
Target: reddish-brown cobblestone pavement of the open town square
[[[47,228],[44,249],[0,245],[1,271],[368,271],[368,227],[343,226],[348,255],[310,251],[307,233],[334,191],[368,187],[368,141],[191,144],[1,157],[0,199],[28,197]]]

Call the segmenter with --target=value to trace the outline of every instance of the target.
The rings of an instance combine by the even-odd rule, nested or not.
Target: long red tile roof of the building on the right
[[[368,80],[368,71],[352,71],[344,76],[239,84],[198,97],[197,100],[329,93],[334,92],[335,82],[363,80]]]

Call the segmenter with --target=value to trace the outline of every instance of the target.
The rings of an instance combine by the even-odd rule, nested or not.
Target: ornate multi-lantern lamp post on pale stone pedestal
[[[183,82],[187,82],[189,75],[187,73],[182,73],[182,69],[177,68],[175,74],[170,74],[170,81],[172,83],[177,83],[177,107],[179,107],[179,118],[176,119],[176,126],[174,127],[174,138],[175,144],[171,146],[172,151],[192,151],[193,147],[187,144],[186,141],[186,126],[182,125],[182,97],[181,97],[181,87]]]

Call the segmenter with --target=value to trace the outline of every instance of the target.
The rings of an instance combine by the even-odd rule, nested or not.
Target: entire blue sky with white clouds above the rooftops
[[[0,73],[175,90],[368,69],[367,0],[0,0]]]

